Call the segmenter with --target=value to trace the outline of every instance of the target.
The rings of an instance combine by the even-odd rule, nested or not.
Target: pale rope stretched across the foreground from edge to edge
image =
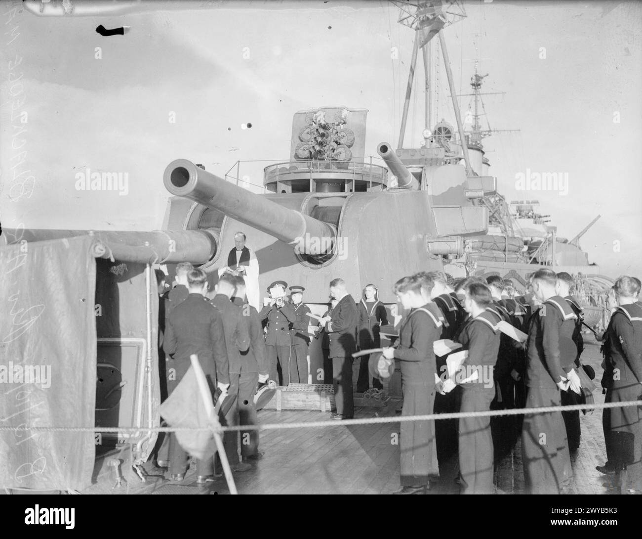
[[[100,432],[143,434],[146,432],[216,432],[248,431],[248,430],[277,430],[282,428],[317,428],[323,426],[376,425],[379,423],[404,423],[406,421],[430,421],[433,419],[459,419],[460,417],[485,416],[530,416],[533,414],[548,414],[550,412],[566,412],[571,410],[595,410],[597,408],[623,408],[629,406],[642,407],[642,401],[625,401],[620,403],[584,404],[551,406],[539,408],[508,408],[507,410],[485,410],[483,412],[451,412],[448,414],[426,414],[424,416],[386,416],[364,417],[363,419],[343,419],[342,421],[299,421],[296,423],[265,423],[263,425],[233,425],[211,427],[99,427],[99,426],[0,426],[0,432],[31,430],[36,432]]]

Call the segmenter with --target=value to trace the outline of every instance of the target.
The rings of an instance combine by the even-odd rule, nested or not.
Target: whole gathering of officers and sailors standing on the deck
[[[356,304],[342,279],[329,286],[331,304],[324,316],[311,314],[303,303],[304,288],[273,282],[261,311],[248,303],[247,271],[243,263],[245,235],[238,233],[236,260],[220,271],[214,295],[207,295],[207,275],[189,263],[178,264],[177,286],[162,296],[162,349],[167,354],[167,394],[187,372],[197,354],[212,381],[214,397],[234,396],[221,416],[224,425],[254,425],[257,389],[269,379],[279,385],[308,383],[308,345],[322,340],[324,382],[333,383],[333,419],[352,419],[352,354],[380,346],[379,328],[388,313],[369,284]],[[242,237],[241,237],[242,236]],[[235,237],[236,240],[236,237]],[[234,250],[233,250],[234,251]],[[240,257],[239,257],[240,255]],[[247,259],[247,253],[245,255]],[[234,264],[236,262],[236,264]],[[239,269],[241,271],[239,271]],[[453,284],[453,286],[451,286]],[[453,288],[454,287],[454,288]],[[403,416],[438,412],[484,412],[503,408],[538,408],[584,403],[586,383],[594,378],[582,365],[582,308],[571,295],[568,273],[541,268],[528,277],[526,294],[517,296],[510,280],[469,277],[451,283],[439,271],[420,272],[394,285],[406,315],[395,328],[397,340],[381,354],[363,356],[357,390],[365,391],[372,377],[383,388],[395,367],[401,371]],[[607,402],[636,400],[642,394],[642,304],[640,282],[620,277],[613,286],[611,323],[602,336]],[[212,296],[210,294],[210,296]],[[311,332],[311,318],[318,319]],[[513,327],[511,334],[506,328]],[[500,328],[503,328],[500,331]],[[519,338],[519,332],[527,336]],[[511,336],[509,336],[511,335]],[[435,342],[458,343],[435,353]],[[466,352],[456,376],[448,357]],[[461,358],[461,356],[460,356]],[[472,373],[475,373],[472,376]],[[586,412],[585,412],[586,413]],[[494,462],[507,454],[521,436],[526,489],[530,493],[563,493],[572,470],[569,453],[580,444],[579,411],[507,416],[467,416],[453,421],[401,422],[401,488],[398,493],[426,491],[439,475],[437,441],[458,439],[458,483],[462,493],[494,491]],[[605,474],[618,473],[623,491],[642,490],[642,421],[638,407],[603,410],[607,463]],[[233,471],[252,468],[259,460],[258,431],[223,437]],[[182,480],[187,455],[174,435],[157,454],[159,466],[169,466],[172,479]],[[221,475],[220,462],[197,462],[197,481]]]

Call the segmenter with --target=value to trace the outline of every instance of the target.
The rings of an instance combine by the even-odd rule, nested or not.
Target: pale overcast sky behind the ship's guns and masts
[[[211,8],[190,9],[199,5]],[[15,15],[8,6],[0,6],[8,31],[0,48],[6,228],[160,228],[169,161],[204,163],[219,176],[237,160],[286,161],[301,109],[367,108],[366,154],[384,140],[396,146],[413,32],[388,3],[182,2],[171,11],[65,18]],[[563,237],[601,214],[580,242],[589,260],[603,273],[639,277],[642,6],[464,6],[467,19],[445,30],[457,91],[470,91],[472,60],[480,59],[484,91],[506,92],[484,98],[490,126],[521,130],[484,140],[499,192],[539,200]],[[98,24],[131,29],[101,37]],[[433,114],[454,124],[443,71],[439,77]],[[405,147],[418,145],[424,129],[422,80],[419,62]],[[465,114],[469,98],[461,100]],[[247,122],[252,128],[241,129]],[[268,164],[244,164],[241,176],[262,185]],[[76,190],[83,167],[127,172],[128,194]],[[568,173],[568,195],[517,192],[516,174],[527,169]]]

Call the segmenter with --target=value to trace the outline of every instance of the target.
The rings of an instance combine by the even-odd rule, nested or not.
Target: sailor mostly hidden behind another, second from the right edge
[[[573,342],[577,347],[577,356],[575,357],[574,363],[575,367],[580,367],[580,354],[584,350],[584,338],[582,338],[582,319],[584,315],[582,314],[582,307],[575,297],[570,295],[572,287],[575,286],[575,281],[573,277],[562,271],[557,274],[557,285],[555,286],[555,292],[560,297],[564,298],[568,302],[573,313],[575,313],[575,329],[573,329]],[[573,391],[562,391],[562,406],[577,405],[580,402],[580,396],[575,394]],[[564,417],[564,425],[566,425],[566,437],[568,438],[568,448],[571,451],[577,450],[580,446],[580,435],[582,434],[580,426],[580,410],[569,410],[562,412],[562,417]]]

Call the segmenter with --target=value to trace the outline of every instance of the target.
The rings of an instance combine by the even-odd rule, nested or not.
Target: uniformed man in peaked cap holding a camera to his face
[[[272,297],[272,289],[281,288],[279,297]],[[285,291],[288,283],[284,280],[277,280],[270,284],[271,301],[268,303],[259,316],[261,322],[266,325],[265,345],[268,351],[268,369],[270,379],[279,381],[279,385],[290,383],[290,356],[292,353],[292,337],[290,324],[297,321],[292,304],[285,301]],[[279,376],[279,368],[281,376]]]

